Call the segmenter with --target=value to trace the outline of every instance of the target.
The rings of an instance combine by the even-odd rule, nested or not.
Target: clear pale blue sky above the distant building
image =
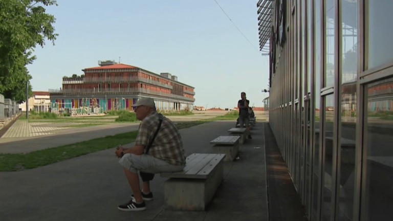
[[[28,65],[33,91],[60,89],[98,60],[116,60],[195,87],[197,106],[233,108],[246,92],[253,106],[268,94],[268,56],[258,41],[257,0],[58,0],[55,46],[37,47]],[[256,50],[256,49],[257,50]]]

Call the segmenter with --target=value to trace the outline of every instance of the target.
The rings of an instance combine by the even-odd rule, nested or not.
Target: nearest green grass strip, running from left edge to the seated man
[[[100,150],[114,148],[118,144],[124,145],[133,142],[137,134],[138,131],[132,131],[30,153],[0,154],[0,171],[32,169]]]

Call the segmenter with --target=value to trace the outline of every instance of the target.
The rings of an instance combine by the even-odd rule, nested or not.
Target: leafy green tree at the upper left
[[[52,41],[55,17],[45,6],[55,0],[0,0],[0,94],[18,102],[26,100],[26,82],[31,79],[26,65],[36,59],[34,48]],[[29,95],[32,94],[29,83]]]

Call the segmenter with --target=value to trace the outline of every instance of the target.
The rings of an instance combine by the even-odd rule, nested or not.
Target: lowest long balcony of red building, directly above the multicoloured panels
[[[156,95],[165,98],[173,98],[179,100],[186,100],[194,102],[195,98],[188,98],[183,97],[180,95],[168,94],[163,92],[152,91],[148,89],[141,89],[141,88],[117,88],[117,89],[63,89],[63,90],[56,90],[56,89],[49,89],[49,94],[51,95],[105,95],[105,94],[148,94],[148,95]]]

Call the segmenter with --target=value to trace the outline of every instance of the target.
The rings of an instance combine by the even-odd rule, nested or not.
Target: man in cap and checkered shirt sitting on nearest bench
[[[118,146],[115,151],[134,193],[132,200],[118,207],[122,211],[145,210],[144,201],[153,199],[149,182],[154,174],[182,171],[186,164],[180,132],[169,119],[156,112],[154,100],[141,98],[133,107],[141,121],[135,146]],[[143,181],[142,191],[138,172]]]

